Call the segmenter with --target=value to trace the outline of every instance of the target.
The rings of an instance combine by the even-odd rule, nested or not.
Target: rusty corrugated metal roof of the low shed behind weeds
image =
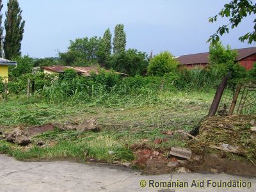
[[[63,65],[52,65],[51,67],[42,67],[44,70],[49,70],[51,72],[56,73],[63,73],[65,69],[72,69],[75,70],[78,74],[81,74],[82,76],[91,76],[92,72],[95,74],[99,74],[99,68],[97,67],[70,67],[70,66],[63,66]],[[106,70],[106,69],[104,69]],[[109,70],[106,70],[109,71]],[[127,76],[127,74],[116,72],[117,74],[120,74],[122,76]]]

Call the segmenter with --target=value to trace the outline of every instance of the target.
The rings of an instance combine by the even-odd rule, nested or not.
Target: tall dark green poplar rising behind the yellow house
[[[6,20],[4,21],[6,32],[4,53],[8,60],[21,54],[20,48],[25,26],[25,21],[22,20],[21,13],[22,10],[20,10],[18,1],[9,0],[7,3],[7,12],[5,12]]]

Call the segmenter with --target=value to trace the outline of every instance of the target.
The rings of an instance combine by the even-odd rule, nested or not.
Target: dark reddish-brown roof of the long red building
[[[255,54],[256,47],[236,49],[236,51],[238,52],[236,61],[240,61],[240,60],[243,60],[243,58],[246,58],[248,56],[251,56],[252,54]],[[197,54],[187,54],[187,55],[179,56],[179,58],[177,58],[177,60],[180,61],[180,65],[193,65],[193,64],[209,63],[209,52],[202,52],[202,53],[197,53]]]

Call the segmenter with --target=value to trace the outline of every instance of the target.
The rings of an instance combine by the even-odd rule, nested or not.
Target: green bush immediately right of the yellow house
[[[22,74],[28,74],[32,72],[33,68],[33,59],[29,56],[17,56],[12,58],[13,61],[17,62],[16,67],[10,67],[10,78],[19,77]]]

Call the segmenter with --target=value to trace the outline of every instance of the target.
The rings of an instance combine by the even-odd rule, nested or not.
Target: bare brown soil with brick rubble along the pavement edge
[[[167,158],[162,152],[159,156],[154,156],[153,150],[138,150],[135,155],[138,159],[134,162],[143,175],[160,175],[168,173],[176,173],[180,167],[186,168],[188,172],[194,173],[227,173],[230,175],[242,175],[255,177],[256,167],[249,161],[237,161],[229,157],[221,157],[217,154],[204,154],[202,159],[196,161],[190,159],[188,161],[179,161],[176,158]],[[170,161],[178,161],[179,166],[168,167]]]

